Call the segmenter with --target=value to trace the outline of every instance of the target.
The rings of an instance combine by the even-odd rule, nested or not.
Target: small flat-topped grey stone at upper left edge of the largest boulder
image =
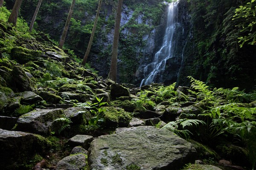
[[[88,149],[90,147],[90,142],[92,142],[93,136],[88,135],[76,135],[73,138],[68,140],[68,143],[71,146],[81,146],[84,149]]]

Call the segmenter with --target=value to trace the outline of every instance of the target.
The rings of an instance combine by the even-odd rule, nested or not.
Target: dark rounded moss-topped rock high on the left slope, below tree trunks
[[[20,64],[24,64],[29,61],[34,61],[41,56],[40,51],[29,50],[23,47],[13,47],[11,50],[11,57]]]

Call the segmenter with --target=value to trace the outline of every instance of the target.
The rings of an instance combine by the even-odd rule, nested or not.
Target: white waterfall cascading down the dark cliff
[[[154,78],[160,71],[163,71],[166,66],[166,60],[173,57],[174,46],[173,37],[175,31],[180,27],[180,23],[177,22],[177,2],[170,3],[168,6],[168,16],[166,30],[163,38],[163,44],[159,51],[154,55],[154,60],[143,69],[145,79],[140,83],[142,85],[148,85],[154,82]]]

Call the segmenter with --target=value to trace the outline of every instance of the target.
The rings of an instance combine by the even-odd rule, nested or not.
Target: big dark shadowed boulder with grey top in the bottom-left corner
[[[24,169],[25,161],[48,148],[49,143],[42,136],[0,129],[1,170]]]

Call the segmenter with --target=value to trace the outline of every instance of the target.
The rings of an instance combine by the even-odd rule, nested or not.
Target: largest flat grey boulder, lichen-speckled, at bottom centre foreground
[[[91,142],[90,170],[178,170],[195,162],[196,150],[174,133],[152,126],[118,128]]]

